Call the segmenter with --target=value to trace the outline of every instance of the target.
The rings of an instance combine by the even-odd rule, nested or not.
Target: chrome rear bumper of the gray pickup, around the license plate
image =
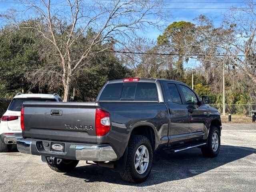
[[[21,153],[57,157],[73,160],[88,161],[115,161],[117,159],[113,148],[108,145],[81,144],[81,143],[64,143],[64,152],[51,150],[51,142],[37,139],[18,139],[17,148]],[[56,143],[56,142],[54,142]]]

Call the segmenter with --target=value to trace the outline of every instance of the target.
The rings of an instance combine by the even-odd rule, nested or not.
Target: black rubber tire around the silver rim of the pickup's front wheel
[[[213,141],[212,136],[213,136],[214,133],[216,133],[217,136],[218,136],[218,148],[215,152],[212,148],[212,141]],[[217,127],[215,127],[215,126],[210,127],[207,147],[206,148],[201,148],[201,151],[202,151],[203,156],[205,156],[205,157],[216,157],[219,154],[219,151],[220,151],[220,132],[219,132]]]

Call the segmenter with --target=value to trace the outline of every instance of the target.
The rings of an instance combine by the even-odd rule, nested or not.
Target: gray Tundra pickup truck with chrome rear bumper
[[[218,155],[220,112],[209,102],[182,82],[112,80],[96,102],[24,102],[17,146],[58,172],[86,160],[139,183],[151,172],[154,150],[198,147],[206,157]]]

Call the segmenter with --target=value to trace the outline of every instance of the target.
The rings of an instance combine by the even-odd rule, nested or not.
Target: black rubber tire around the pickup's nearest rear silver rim
[[[135,168],[135,155],[138,148],[142,145],[145,146],[148,150],[149,161],[148,161],[148,167],[146,171],[142,174],[139,174]],[[128,144],[126,168],[124,172],[120,173],[120,176],[122,177],[122,179],[132,183],[144,182],[148,178],[151,172],[152,164],[153,164],[153,150],[152,150],[152,145],[148,140],[148,138],[141,135],[132,135]]]

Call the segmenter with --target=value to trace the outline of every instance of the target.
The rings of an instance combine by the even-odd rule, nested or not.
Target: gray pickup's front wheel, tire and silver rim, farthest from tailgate
[[[201,148],[205,157],[216,157],[220,151],[220,132],[217,127],[210,128],[207,148]]]

